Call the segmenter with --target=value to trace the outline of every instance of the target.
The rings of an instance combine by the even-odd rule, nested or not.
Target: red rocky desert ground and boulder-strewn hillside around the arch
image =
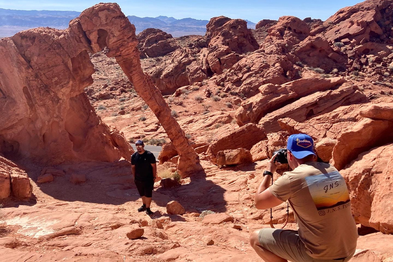
[[[0,167],[8,173],[27,171],[34,197],[28,205],[3,203],[0,254],[9,261],[260,261],[248,237],[269,226],[270,213],[255,209],[253,194],[266,159],[289,135],[304,132],[350,189],[361,235],[351,261],[390,261],[392,10],[393,1],[371,0],[326,21],[285,16],[249,30],[244,21],[221,16],[210,20],[205,36],[142,32],[136,36],[142,68],[203,171],[180,184],[157,182],[150,218],[136,212],[140,203],[127,161],[43,168],[28,158],[17,164],[5,159]],[[86,32],[97,40],[95,51],[101,49],[97,31]],[[141,88],[107,57],[110,51],[90,54],[94,83],[85,93],[97,115],[129,141],[169,142],[157,107],[138,95]],[[10,148],[4,140],[2,151]],[[176,170],[179,153],[164,145],[162,177]],[[167,207],[173,200],[184,211]],[[273,216],[283,223],[286,205]],[[292,212],[289,221],[287,228],[295,229]],[[140,228],[142,237],[127,237]]]

